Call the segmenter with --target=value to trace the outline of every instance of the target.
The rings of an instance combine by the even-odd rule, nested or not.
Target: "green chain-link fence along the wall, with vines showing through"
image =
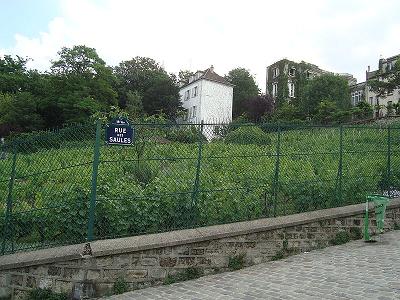
[[[0,148],[1,254],[275,217],[400,190],[400,128],[104,124]],[[96,138],[97,136],[97,138]]]

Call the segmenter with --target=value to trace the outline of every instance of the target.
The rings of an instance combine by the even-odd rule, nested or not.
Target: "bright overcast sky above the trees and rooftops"
[[[114,66],[135,56],[168,72],[244,67],[265,90],[267,65],[288,58],[365,80],[400,53],[398,0],[0,0],[0,55],[46,70],[63,46],[96,48]]]

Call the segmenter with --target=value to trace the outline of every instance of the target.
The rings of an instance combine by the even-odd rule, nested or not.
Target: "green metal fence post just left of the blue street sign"
[[[94,145],[94,153],[93,153],[92,192],[90,194],[89,221],[88,221],[88,234],[87,234],[87,240],[89,242],[93,240],[94,213],[96,210],[96,195],[97,195],[97,174],[100,162],[100,135],[101,135],[101,121],[97,120],[96,142]]]

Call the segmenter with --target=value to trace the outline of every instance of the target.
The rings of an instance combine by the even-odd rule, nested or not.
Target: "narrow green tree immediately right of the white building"
[[[233,87],[233,117],[236,118],[246,110],[245,102],[259,95],[260,90],[254,77],[247,69],[236,68],[229,71],[225,78],[234,85]]]

